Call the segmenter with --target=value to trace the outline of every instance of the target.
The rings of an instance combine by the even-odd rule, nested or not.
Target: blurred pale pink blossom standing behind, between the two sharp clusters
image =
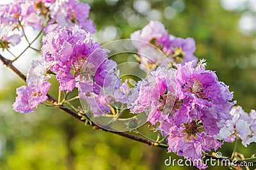
[[[133,32],[131,38],[134,39],[132,43],[140,54],[141,64],[150,70],[157,66],[167,68],[172,66],[172,63],[184,64],[190,60],[197,60],[193,55],[195,40],[169,35],[159,21],[150,21],[143,29]],[[146,69],[143,70],[147,72]]]

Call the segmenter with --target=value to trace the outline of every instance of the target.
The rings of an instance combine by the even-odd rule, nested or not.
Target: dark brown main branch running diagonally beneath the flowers
[[[10,69],[12,69],[12,71],[14,71],[22,80],[26,81],[26,76],[24,74],[22,74],[19,71],[19,69],[17,69],[15,66],[13,66],[12,60],[8,60],[8,59],[4,58],[3,55],[1,55],[1,54],[0,54],[0,60],[3,62],[4,65],[6,65]],[[52,97],[51,95],[47,94],[47,97],[48,97],[47,100],[50,103],[52,103],[52,104],[57,104],[58,103],[58,101],[56,99],[54,99],[54,97]],[[65,111],[65,113],[67,113],[68,115],[76,118],[77,120],[80,120],[81,122],[85,122],[85,120],[81,120],[82,117],[77,115],[76,112],[70,110],[70,108],[67,108],[66,106],[63,106],[63,105],[59,106],[59,108],[61,110]],[[102,129],[98,125],[93,124],[93,122],[92,122],[92,126],[93,126],[93,129],[101,129],[102,131],[111,132],[113,134],[118,134],[120,136],[124,136],[125,138],[129,138],[129,139],[132,139],[134,141],[140,141],[141,143],[145,143],[147,145],[159,146],[159,147],[162,147],[162,148],[166,148],[166,146],[160,145],[159,143],[155,143],[155,142],[150,141],[148,139],[140,138],[138,136],[133,136],[133,135],[125,133],[125,132],[115,132],[115,131],[109,131],[107,129]]]

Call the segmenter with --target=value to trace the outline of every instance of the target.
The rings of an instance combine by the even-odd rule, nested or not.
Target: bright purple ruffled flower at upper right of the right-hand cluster
[[[209,124],[212,121],[230,119],[228,113],[234,105],[234,102],[230,102],[233,97],[232,92],[228,90],[227,85],[218,81],[214,71],[205,70],[204,60],[201,60],[195,68],[193,62],[187,62],[184,66],[177,64],[176,78],[177,97],[185,101],[182,107],[187,107],[191,113],[196,114],[183,117],[182,122],[189,122],[195,116]]]

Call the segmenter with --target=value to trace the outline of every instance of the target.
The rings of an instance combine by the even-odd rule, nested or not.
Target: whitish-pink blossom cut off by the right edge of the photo
[[[232,120],[220,122],[220,125],[222,125],[220,133],[214,136],[214,138],[233,142],[237,137],[242,140],[242,144],[245,147],[252,142],[256,142],[255,110],[246,113],[241,106],[234,106],[230,111],[230,115],[232,116]]]

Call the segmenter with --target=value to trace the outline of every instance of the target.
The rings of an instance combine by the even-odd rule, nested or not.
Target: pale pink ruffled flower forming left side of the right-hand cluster
[[[148,121],[156,124],[166,118],[173,106],[175,96],[175,70],[157,68],[131,90],[128,108],[132,113],[145,111]]]

